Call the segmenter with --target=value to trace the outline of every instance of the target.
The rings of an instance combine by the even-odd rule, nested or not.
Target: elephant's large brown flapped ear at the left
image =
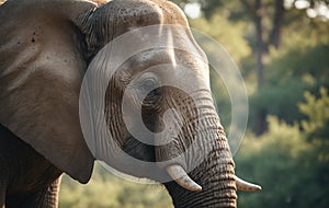
[[[81,183],[93,167],[79,122],[86,70],[79,20],[95,4],[9,0],[0,7],[0,123]]]

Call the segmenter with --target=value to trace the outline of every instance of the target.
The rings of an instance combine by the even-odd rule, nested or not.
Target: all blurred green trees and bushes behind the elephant
[[[329,21],[320,0],[177,0],[198,3],[191,26],[225,46],[248,90],[249,127],[237,174],[263,186],[238,193],[239,207],[329,206]],[[195,5],[195,4],[194,4]],[[212,77],[219,115],[229,97]],[[88,185],[64,177],[60,207],[172,207],[160,185],[121,180],[98,166]]]

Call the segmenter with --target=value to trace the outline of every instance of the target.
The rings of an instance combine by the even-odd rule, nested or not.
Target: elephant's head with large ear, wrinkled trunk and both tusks
[[[125,173],[162,182],[175,207],[236,207],[237,188],[260,188],[235,176],[206,57],[173,3],[113,0],[98,8],[82,0],[10,0],[0,21],[0,123],[71,177],[88,182],[97,157]],[[155,43],[161,47],[132,54],[103,81],[120,54],[110,43],[152,25],[152,35],[137,32],[131,39],[159,38]],[[89,103],[104,95],[99,102],[103,108],[92,108],[87,129],[104,142],[97,152],[88,143],[94,155],[79,123],[87,69],[95,83],[107,83],[104,92],[92,85],[83,95]],[[99,128],[102,120],[105,129]],[[140,134],[140,128],[152,134]],[[113,137],[110,147],[106,132]],[[123,165],[112,146],[146,164]]]

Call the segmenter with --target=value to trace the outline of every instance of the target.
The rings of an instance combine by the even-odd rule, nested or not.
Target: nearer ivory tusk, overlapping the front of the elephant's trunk
[[[167,166],[167,173],[183,188],[192,192],[200,192],[202,187],[195,183],[184,169],[179,164],[171,164]]]

